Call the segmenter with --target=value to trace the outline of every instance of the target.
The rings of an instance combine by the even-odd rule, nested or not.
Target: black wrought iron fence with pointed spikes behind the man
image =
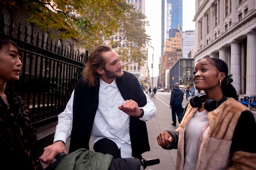
[[[8,35],[5,33],[4,25],[2,17],[0,36],[10,38],[22,50],[20,80],[9,82],[8,85],[29,107],[36,128],[56,122],[57,115],[64,110],[76,82],[81,77],[81,71],[88,60],[88,51],[85,51],[85,54],[69,53],[66,47],[63,50],[63,46],[57,46],[57,40],[55,45],[54,40],[51,40],[51,43],[48,39],[46,42],[43,38],[40,40],[39,33],[34,45],[33,36],[29,37],[28,42],[27,28],[23,35],[24,40],[21,40],[21,24],[17,29],[17,38],[13,36],[14,24],[11,23]]]

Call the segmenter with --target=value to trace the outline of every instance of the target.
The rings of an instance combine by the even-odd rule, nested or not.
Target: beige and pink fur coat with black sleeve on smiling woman
[[[184,134],[196,110],[188,104],[177,130],[168,131],[173,142],[163,148],[177,148],[176,170],[183,170]],[[207,117],[209,123],[200,137],[196,170],[256,170],[256,122],[252,112],[228,98]]]

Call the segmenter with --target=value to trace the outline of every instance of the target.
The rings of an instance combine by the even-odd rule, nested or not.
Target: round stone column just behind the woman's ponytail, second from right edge
[[[237,94],[241,94],[241,76],[240,76],[240,42],[233,41],[231,44],[230,74],[233,75],[232,85]]]

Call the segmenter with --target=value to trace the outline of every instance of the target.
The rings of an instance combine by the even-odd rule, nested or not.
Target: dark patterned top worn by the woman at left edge
[[[0,96],[1,170],[43,170],[36,156],[36,128],[29,110],[10,89],[6,95],[10,107]]]

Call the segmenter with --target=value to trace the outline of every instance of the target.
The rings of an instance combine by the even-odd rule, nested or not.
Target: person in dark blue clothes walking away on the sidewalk
[[[172,109],[173,126],[176,126],[176,115],[179,123],[182,120],[183,91],[179,88],[179,85],[179,83],[175,83],[171,92],[170,108]]]

